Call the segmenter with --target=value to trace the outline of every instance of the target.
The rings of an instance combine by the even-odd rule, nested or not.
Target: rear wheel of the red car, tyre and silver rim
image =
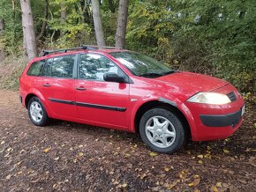
[[[42,127],[49,122],[48,114],[39,98],[33,97],[29,100],[27,111],[31,122],[33,122],[34,125]]]

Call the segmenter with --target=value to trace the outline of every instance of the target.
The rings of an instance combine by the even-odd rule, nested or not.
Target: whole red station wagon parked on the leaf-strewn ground
[[[45,51],[20,77],[20,101],[31,121],[49,118],[139,132],[154,151],[177,151],[189,137],[229,137],[242,123],[245,102],[228,82],[171,70],[124,49]]]

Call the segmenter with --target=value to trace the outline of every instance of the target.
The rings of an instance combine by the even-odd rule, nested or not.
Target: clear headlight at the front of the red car
[[[195,103],[206,103],[206,104],[215,104],[222,105],[230,103],[230,99],[227,95],[217,93],[217,92],[199,92],[192,96],[187,101]]]

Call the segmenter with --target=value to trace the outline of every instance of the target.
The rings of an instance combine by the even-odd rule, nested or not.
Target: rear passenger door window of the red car
[[[51,77],[72,78],[75,55],[65,55],[53,58]]]

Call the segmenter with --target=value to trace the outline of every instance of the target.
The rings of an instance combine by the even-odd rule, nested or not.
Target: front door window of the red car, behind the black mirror
[[[120,76],[124,75],[123,70],[121,70],[115,63],[111,62],[104,55],[80,55],[79,78],[104,81],[103,75],[108,72],[114,72]]]

